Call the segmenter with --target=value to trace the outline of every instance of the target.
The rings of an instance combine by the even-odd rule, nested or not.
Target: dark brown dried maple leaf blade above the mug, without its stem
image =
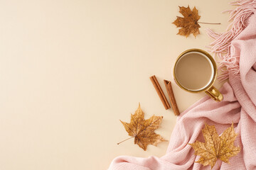
[[[177,27],[182,27],[178,30],[178,35],[183,35],[188,37],[191,33],[196,38],[196,35],[200,34],[199,32],[199,24],[198,20],[201,16],[198,15],[198,10],[196,9],[196,6],[193,8],[193,11],[191,11],[191,8],[189,6],[185,8],[184,6],[178,6],[180,8],[180,13],[184,16],[183,18],[180,16],[177,16],[176,21],[174,21],[174,24]]]

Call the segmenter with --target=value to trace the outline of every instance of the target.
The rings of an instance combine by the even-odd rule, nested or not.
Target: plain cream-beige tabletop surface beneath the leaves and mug
[[[149,77],[174,82],[178,54],[206,50],[206,28],[227,28],[229,2],[1,0],[0,169],[107,169],[119,155],[162,156],[168,142],[146,152],[133,140],[117,145],[129,137],[119,119],[129,122],[140,102],[146,118],[164,116],[156,132],[169,140],[176,117]],[[178,6],[188,4],[222,25],[176,35]],[[180,111],[205,96],[173,86]]]

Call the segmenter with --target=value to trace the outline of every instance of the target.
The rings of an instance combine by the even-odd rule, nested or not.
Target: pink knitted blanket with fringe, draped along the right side
[[[228,67],[224,77],[228,75],[229,83],[220,90],[224,100],[217,103],[206,96],[181,113],[163,157],[117,157],[109,169],[210,169],[194,163],[199,157],[187,145],[204,142],[204,123],[215,125],[218,134],[234,123],[239,134],[235,145],[241,147],[240,153],[230,158],[230,164],[218,160],[213,169],[256,169],[256,2],[237,3],[240,6],[233,11],[233,27],[224,34],[209,32],[215,38],[213,52]]]

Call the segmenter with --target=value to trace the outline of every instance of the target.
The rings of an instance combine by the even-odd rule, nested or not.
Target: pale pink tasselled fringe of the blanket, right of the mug
[[[221,60],[219,69],[222,74],[218,79],[224,81],[228,79],[228,74],[239,76],[239,59],[230,55],[231,41],[236,38],[242,30],[248,25],[248,18],[255,13],[256,1],[255,0],[239,0],[230,3],[233,6],[238,6],[235,10],[224,11],[230,13],[229,24],[225,33],[215,33],[213,30],[207,29],[206,33],[213,42],[210,43],[210,52],[218,56]]]

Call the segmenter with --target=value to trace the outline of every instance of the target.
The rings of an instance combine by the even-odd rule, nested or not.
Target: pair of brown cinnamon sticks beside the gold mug
[[[171,87],[171,81],[164,80],[164,85],[166,86],[166,91],[167,91],[167,94],[171,101],[171,106],[170,106],[169,102],[166,99],[166,96],[164,95],[164,91],[161,89],[161,86],[156,79],[156,76],[154,75],[154,76],[150,77],[150,80],[151,80],[152,84],[154,85],[154,88],[156,89],[156,92],[159,95],[159,98],[161,99],[161,102],[163,103],[164,108],[167,110],[172,107],[173,111],[174,111],[174,115],[179,115],[180,113],[178,111],[178,106],[176,103],[176,99],[174,97],[174,91]]]

